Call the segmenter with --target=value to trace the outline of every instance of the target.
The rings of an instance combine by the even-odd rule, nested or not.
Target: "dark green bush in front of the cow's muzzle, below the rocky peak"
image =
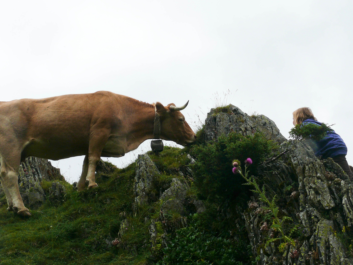
[[[251,174],[255,174],[256,167],[273,152],[274,147],[275,144],[261,133],[253,136],[229,133],[219,137],[217,142],[193,147],[191,154],[197,156],[193,165],[194,185],[199,197],[218,202],[237,197],[245,188],[241,185],[243,178],[232,173],[234,157],[240,161],[251,157],[254,165]]]

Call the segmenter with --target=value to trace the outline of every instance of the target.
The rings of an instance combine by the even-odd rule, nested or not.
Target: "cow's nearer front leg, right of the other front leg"
[[[94,132],[94,136],[91,136],[89,148],[88,148],[88,172],[86,176],[87,188],[97,187],[96,183],[96,166],[101,159],[103,147],[109,138],[110,130],[101,129],[100,131]]]

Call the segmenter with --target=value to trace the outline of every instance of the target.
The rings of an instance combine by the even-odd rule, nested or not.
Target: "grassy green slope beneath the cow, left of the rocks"
[[[131,208],[134,171],[131,164],[116,169],[108,179],[98,176],[98,188],[81,193],[64,182],[66,201],[60,205],[47,202],[32,210],[31,218],[6,211],[2,198],[0,264],[125,264],[136,260],[136,255],[127,255],[106,242],[115,238]],[[49,187],[42,184],[44,189]],[[134,240],[144,241],[144,233],[139,232]]]

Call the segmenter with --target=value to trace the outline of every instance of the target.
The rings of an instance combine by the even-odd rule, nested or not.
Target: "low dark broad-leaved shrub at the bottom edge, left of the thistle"
[[[241,242],[223,239],[199,231],[192,226],[179,229],[157,265],[177,264],[243,264],[237,245]],[[236,258],[238,256],[238,258]]]

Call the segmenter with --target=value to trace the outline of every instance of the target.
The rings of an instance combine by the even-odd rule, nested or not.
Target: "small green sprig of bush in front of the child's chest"
[[[332,131],[330,126],[327,124],[322,124],[321,126],[318,124],[306,123],[306,124],[298,124],[289,131],[289,135],[291,138],[295,140],[301,140],[310,138],[315,141],[319,141],[327,136],[327,132]]]

